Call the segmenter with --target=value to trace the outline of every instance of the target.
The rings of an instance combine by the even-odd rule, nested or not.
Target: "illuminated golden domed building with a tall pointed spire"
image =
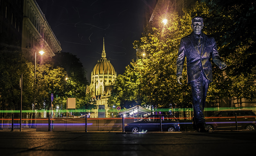
[[[103,50],[101,58],[94,66],[91,74],[90,92],[93,100],[96,100],[98,109],[93,109],[91,118],[107,118],[108,115],[108,97],[111,95],[116,71],[110,60],[106,58],[105,43],[103,38]]]

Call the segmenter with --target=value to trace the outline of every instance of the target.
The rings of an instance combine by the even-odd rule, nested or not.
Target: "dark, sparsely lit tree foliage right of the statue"
[[[202,6],[205,9],[200,9]],[[249,100],[255,97],[256,87],[248,83],[255,79],[256,73],[253,70],[256,53],[255,25],[252,20],[255,12],[255,2],[251,0],[205,0],[205,3],[187,10],[191,17],[204,18],[204,32],[214,36],[220,56],[228,64],[224,72],[213,67],[215,82],[210,85],[208,101],[216,97]]]

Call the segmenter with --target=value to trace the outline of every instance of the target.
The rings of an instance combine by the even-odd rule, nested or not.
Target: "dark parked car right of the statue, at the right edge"
[[[236,130],[237,128],[255,130],[256,115],[252,110],[229,109],[214,113],[211,117],[205,119],[206,129],[209,130]]]

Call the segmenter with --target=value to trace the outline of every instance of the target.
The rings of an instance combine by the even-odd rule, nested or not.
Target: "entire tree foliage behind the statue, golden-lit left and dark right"
[[[149,23],[140,40],[134,41],[139,59],[127,66],[124,74],[117,76],[117,101],[121,105],[139,101],[138,104],[158,108],[170,108],[175,104],[192,107],[190,85],[186,84],[186,64],[182,74],[183,85],[178,85],[176,59],[180,39],[192,32],[191,19],[196,16],[204,18],[204,33],[214,36],[220,56],[228,64],[224,71],[212,66],[214,81],[210,84],[207,101],[216,97],[252,99],[256,87],[248,85],[248,82],[255,80],[252,72],[256,62],[255,25],[250,20],[255,14],[255,2],[222,2],[197,2],[195,7],[184,10],[183,17],[170,12]],[[166,25],[161,22],[163,18],[168,19]]]

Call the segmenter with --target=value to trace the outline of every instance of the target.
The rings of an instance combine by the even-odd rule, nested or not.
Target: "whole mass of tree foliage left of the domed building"
[[[49,110],[51,93],[54,95],[52,102],[54,110],[60,110],[61,106],[65,110],[68,97],[76,98],[76,109],[95,108],[96,102],[93,102],[90,94],[86,93],[88,82],[85,78],[85,69],[75,55],[60,52],[52,59],[37,56],[39,64],[36,64],[35,77],[35,64],[22,56],[20,46],[16,46],[15,43],[3,42],[0,45],[0,50],[2,110],[20,109],[21,74],[23,74],[23,110],[32,110],[34,100],[36,101],[36,110]],[[65,61],[67,58],[69,58],[68,61]]]

